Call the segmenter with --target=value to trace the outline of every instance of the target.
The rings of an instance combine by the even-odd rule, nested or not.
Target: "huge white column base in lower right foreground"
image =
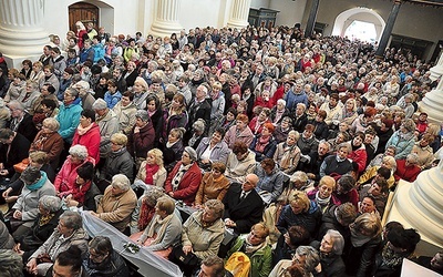
[[[391,193],[383,216],[383,225],[395,220],[405,228],[415,228],[421,236],[418,255],[433,256],[443,247],[443,174],[440,167],[422,172],[414,183],[403,179]]]

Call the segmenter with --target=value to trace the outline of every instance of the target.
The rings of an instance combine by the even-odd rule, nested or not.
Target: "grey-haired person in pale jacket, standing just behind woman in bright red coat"
[[[100,158],[104,161],[111,152],[111,136],[119,132],[119,119],[103,99],[95,100],[92,109],[95,112],[95,122],[100,127]]]

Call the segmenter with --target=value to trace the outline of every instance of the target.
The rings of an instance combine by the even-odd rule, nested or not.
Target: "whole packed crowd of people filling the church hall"
[[[375,47],[76,22],[39,61],[0,60],[0,264],[128,276],[80,208],[185,276],[399,276],[420,234],[382,226],[388,195],[436,166],[442,129],[415,113],[431,64]],[[442,253],[418,263],[442,273]]]

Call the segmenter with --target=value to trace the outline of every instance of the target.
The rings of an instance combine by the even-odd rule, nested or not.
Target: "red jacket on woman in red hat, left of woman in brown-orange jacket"
[[[166,193],[173,192],[173,178],[177,174],[182,162],[178,162],[173,171],[167,175],[165,182]],[[183,175],[177,189],[174,192],[175,199],[182,199],[186,205],[192,205],[195,201],[195,195],[198,192],[198,187],[202,182],[202,170],[198,167],[197,163],[194,163],[190,168]]]

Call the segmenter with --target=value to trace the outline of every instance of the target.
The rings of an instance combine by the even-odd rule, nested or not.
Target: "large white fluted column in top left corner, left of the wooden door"
[[[0,1],[0,45],[6,57],[12,60],[42,54],[49,43],[43,9],[43,0]]]

